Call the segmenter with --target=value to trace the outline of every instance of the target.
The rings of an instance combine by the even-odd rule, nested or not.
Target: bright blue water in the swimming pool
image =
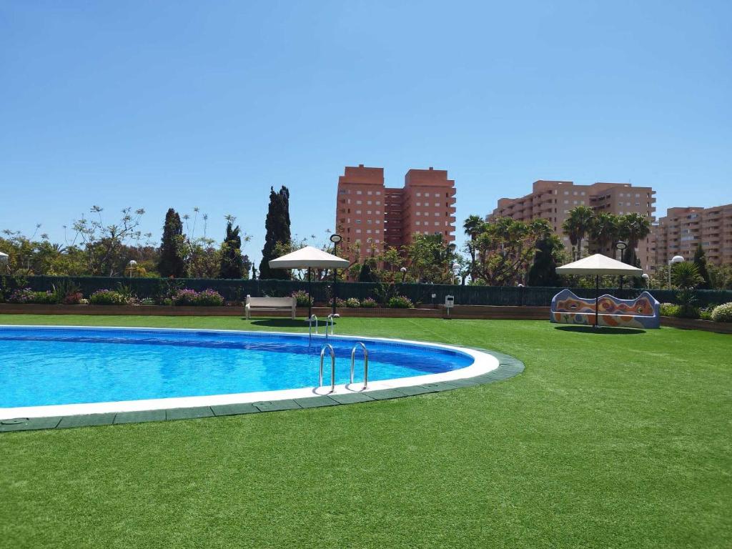
[[[329,338],[336,383],[345,384],[358,338]],[[0,326],[0,408],[299,389],[318,384],[324,338],[261,332],[195,332]],[[449,349],[365,341],[369,380],[443,373],[473,358]],[[356,354],[356,382],[363,363]],[[330,384],[326,358],[324,384]]]

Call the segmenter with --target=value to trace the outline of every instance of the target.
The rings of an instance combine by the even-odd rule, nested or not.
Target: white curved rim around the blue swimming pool
[[[234,334],[271,334],[271,335],[296,335],[307,337],[302,332],[269,332],[264,330],[225,330],[225,329],[198,329],[198,328],[154,328],[154,327],[128,327],[128,326],[48,326],[30,324],[0,324],[2,328],[40,328],[40,329],[92,329],[92,330],[154,330],[157,332],[228,332]],[[324,335],[313,335],[325,344]],[[431,343],[426,341],[414,341],[393,339],[389,337],[360,337],[356,335],[329,335],[328,338],[343,340],[382,341],[392,343],[409,343],[425,347],[447,349],[467,354],[473,358],[473,364],[458,370],[444,373],[425,374],[424,376],[411,376],[408,378],[386,379],[384,381],[370,381],[367,389],[362,389],[362,384],[336,385],[335,391],[330,392],[330,386],[319,387],[317,391],[313,388],[305,389],[280,389],[277,391],[258,391],[231,393],[227,395],[207,395],[203,397],[171,397],[152,398],[143,400],[119,400],[115,402],[84,403],[84,404],[55,404],[49,406],[17,406],[14,408],[0,408],[0,421],[4,419],[15,419],[20,417],[55,417],[55,416],[78,416],[86,414],[110,414],[127,411],[151,411],[166,410],[170,408],[197,408],[199,406],[221,406],[224,404],[245,404],[257,402],[273,402],[275,400],[291,400],[331,395],[351,395],[363,392],[366,395],[370,391],[381,389],[397,389],[427,383],[438,383],[441,381],[452,381],[455,379],[473,378],[496,370],[499,362],[495,356],[471,348],[448,345],[446,343]],[[359,364],[359,363],[357,363]],[[327,370],[327,368],[326,368]],[[358,370],[356,370],[358,371]],[[362,373],[362,371],[361,371]]]

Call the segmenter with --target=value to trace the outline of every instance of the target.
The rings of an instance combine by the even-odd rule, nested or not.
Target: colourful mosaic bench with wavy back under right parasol
[[[608,294],[584,299],[564,289],[551,300],[551,321],[585,326],[660,328],[660,303],[647,291],[636,299],[617,299]]]

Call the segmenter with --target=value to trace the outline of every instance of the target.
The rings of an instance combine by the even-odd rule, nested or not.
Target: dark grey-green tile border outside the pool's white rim
[[[353,336],[344,335],[343,337]],[[419,343],[426,343],[429,345],[431,342]],[[441,346],[441,344],[436,343],[433,343],[433,345]],[[365,403],[376,400],[391,400],[413,395],[424,395],[428,393],[459,389],[462,387],[489,384],[495,381],[502,381],[504,379],[518,376],[518,374],[524,370],[523,362],[507,354],[477,347],[454,346],[449,344],[446,346],[458,349],[462,348],[470,351],[479,351],[489,356],[493,356],[493,358],[498,362],[498,367],[489,370],[486,373],[472,377],[451,379],[449,381],[427,382],[409,386],[390,387],[386,389],[367,389],[365,391],[348,392],[345,394],[335,393],[283,400],[261,400],[247,403],[213,404],[210,406],[193,406],[187,408],[160,408],[143,411],[111,411],[97,414],[3,419],[0,420],[0,433],[258,414],[269,411],[300,410],[307,408],[322,408],[325,406],[337,406],[342,404]]]

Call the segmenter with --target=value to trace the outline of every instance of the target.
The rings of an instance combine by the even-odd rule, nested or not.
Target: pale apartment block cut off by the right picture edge
[[[732,204],[670,208],[651,229],[652,264],[666,265],[674,255],[691,260],[701,243],[712,265],[732,264]]]

